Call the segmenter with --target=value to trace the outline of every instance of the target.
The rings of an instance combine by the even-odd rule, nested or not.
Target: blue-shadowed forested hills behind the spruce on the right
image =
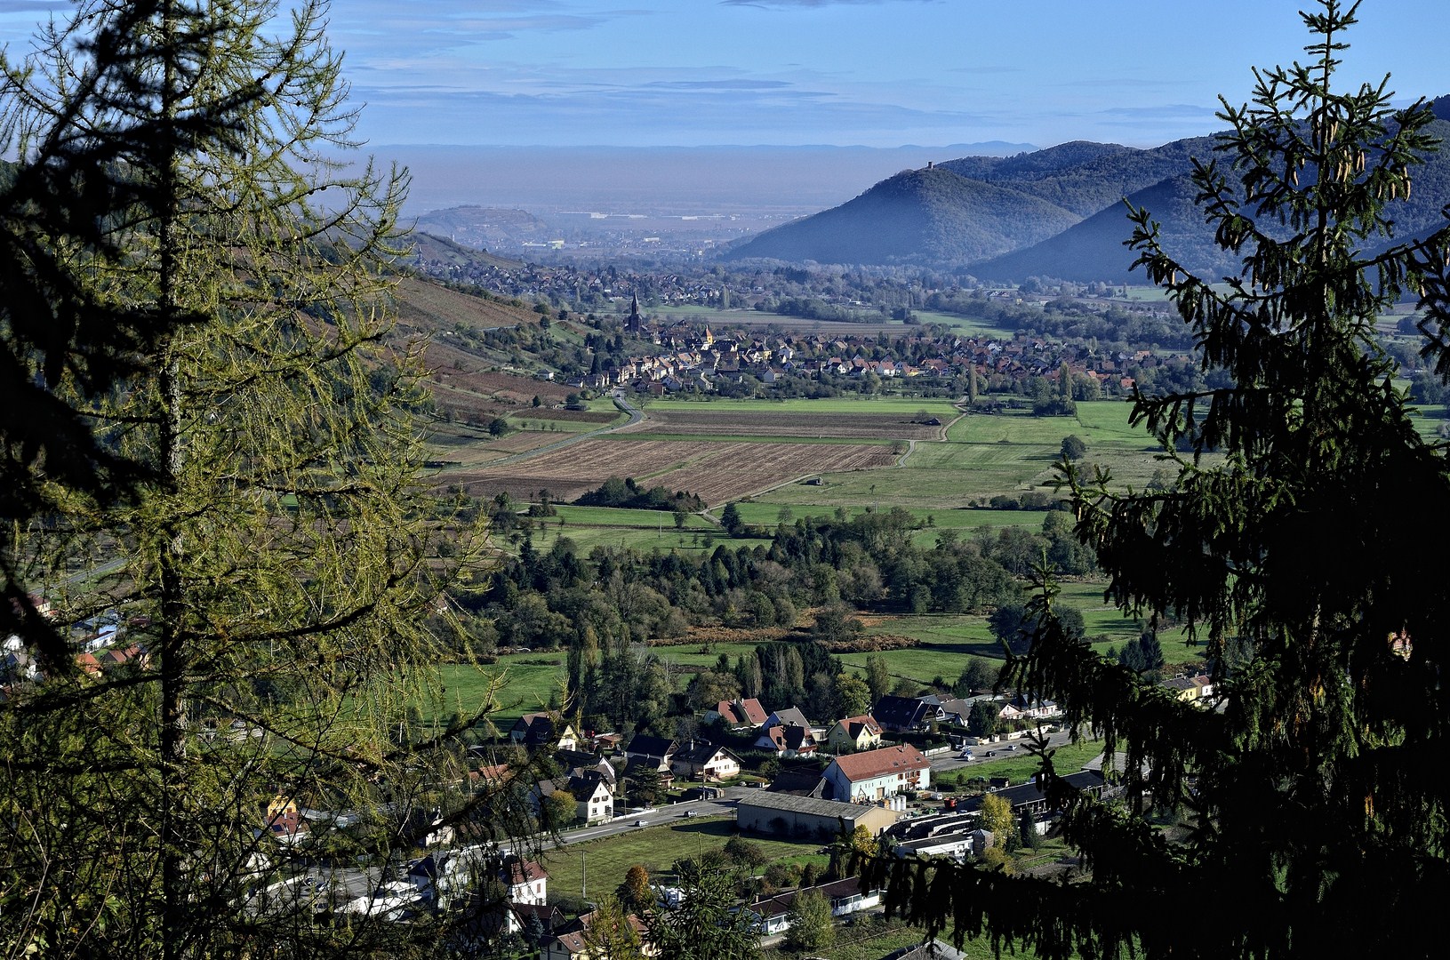
[[[1434,102],[1430,132],[1450,145],[1450,97]],[[1195,204],[1193,158],[1214,157],[1212,136],[1151,149],[1074,141],[1014,157],[963,157],[889,177],[854,200],[735,245],[728,260],[912,264],[964,268],[983,280],[1134,278],[1127,197],[1160,223],[1164,248],[1195,271],[1224,274]],[[1391,206],[1396,236],[1444,223],[1450,151],[1414,171],[1411,200]],[[1137,274],[1141,278],[1141,274]]]

